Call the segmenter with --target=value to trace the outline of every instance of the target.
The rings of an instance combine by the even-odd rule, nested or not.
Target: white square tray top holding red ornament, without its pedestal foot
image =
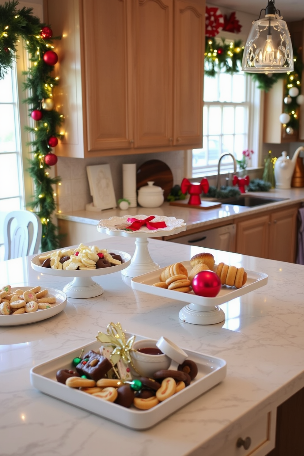
[[[190,261],[181,261],[188,273],[191,271]],[[215,265],[216,266],[216,265]],[[175,301],[189,302],[198,304],[200,306],[219,306],[224,304],[224,302],[231,301],[238,296],[246,295],[250,291],[257,290],[267,284],[268,275],[263,272],[247,272],[247,282],[242,288],[229,287],[222,285],[222,289],[219,294],[214,298],[205,298],[203,296],[198,296],[191,291],[190,293],[182,293],[180,291],[168,290],[166,288],[160,288],[157,286],[152,286],[156,282],[160,281],[161,272],[166,269],[155,269],[152,272],[147,274],[138,275],[133,277],[131,280],[131,285],[134,290],[144,291],[145,293],[150,293],[151,295],[163,296],[165,298],[174,299]]]

